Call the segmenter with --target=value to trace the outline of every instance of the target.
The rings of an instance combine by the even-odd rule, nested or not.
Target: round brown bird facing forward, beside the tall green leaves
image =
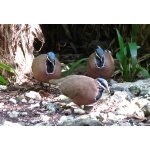
[[[110,79],[115,71],[114,59],[109,52],[98,46],[87,60],[87,76]]]

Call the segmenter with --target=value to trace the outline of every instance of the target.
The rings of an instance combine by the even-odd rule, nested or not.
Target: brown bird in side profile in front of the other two
[[[57,85],[61,93],[79,107],[95,103],[101,98],[104,90],[109,92],[105,79],[93,79],[85,75],[68,75],[60,79],[51,79],[49,83]]]

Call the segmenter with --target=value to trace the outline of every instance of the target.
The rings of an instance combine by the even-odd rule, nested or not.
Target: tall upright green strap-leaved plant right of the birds
[[[137,50],[140,48],[136,44],[137,26],[132,25],[131,42],[124,43],[122,36],[117,31],[119,51],[116,53],[116,58],[120,62],[120,69],[125,81],[132,81],[138,72],[142,71],[146,77],[150,77],[148,71],[140,66],[137,61]]]

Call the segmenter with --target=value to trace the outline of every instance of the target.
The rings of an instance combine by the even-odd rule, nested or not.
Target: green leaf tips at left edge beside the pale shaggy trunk
[[[2,62],[0,62],[0,68],[5,69],[5,70],[15,74],[15,70],[12,67],[10,67]],[[0,75],[0,84],[2,84],[2,85],[8,84],[8,81],[1,75]]]

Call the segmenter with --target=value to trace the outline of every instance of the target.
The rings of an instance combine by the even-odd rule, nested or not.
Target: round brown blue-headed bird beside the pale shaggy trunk
[[[61,64],[53,52],[48,52],[34,58],[32,72],[36,80],[48,83],[50,79],[61,77]]]

